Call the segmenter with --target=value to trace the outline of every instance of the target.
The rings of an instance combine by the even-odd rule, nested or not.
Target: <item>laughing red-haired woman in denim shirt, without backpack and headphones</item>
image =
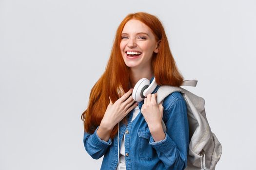
[[[132,89],[141,78],[150,82],[155,78],[158,86],[144,101],[135,102]],[[126,16],[118,27],[106,70],[93,86],[81,116],[86,151],[94,159],[104,155],[101,170],[185,169],[186,103],[179,92],[167,96],[162,104],[156,102],[159,85],[180,86],[182,81],[158,18],[142,12]]]

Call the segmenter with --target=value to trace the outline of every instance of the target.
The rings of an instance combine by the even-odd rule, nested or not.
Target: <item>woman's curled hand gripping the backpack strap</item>
[[[162,126],[161,121],[163,118],[163,105],[162,103],[158,105],[156,97],[157,93],[148,94],[144,99],[144,104],[140,110],[150,130],[152,130],[154,127],[157,128],[158,126]]]

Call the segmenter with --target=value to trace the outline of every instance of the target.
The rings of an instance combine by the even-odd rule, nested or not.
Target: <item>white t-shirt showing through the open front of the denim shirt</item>
[[[132,121],[137,117],[139,113],[139,108],[138,106],[134,108],[134,113],[132,117]],[[125,133],[121,141],[121,147],[120,147],[120,155],[119,155],[119,160],[120,160],[120,170],[126,170],[125,166],[125,150],[124,150],[124,138],[125,138]],[[117,170],[119,170],[119,166],[117,167]]]

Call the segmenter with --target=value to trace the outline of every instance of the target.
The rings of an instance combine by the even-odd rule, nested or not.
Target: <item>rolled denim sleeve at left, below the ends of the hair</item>
[[[99,138],[97,134],[98,127],[93,134],[84,132],[83,135],[83,144],[85,150],[94,159],[98,159],[103,156],[106,153],[108,147],[112,144],[111,138],[109,138],[107,142]]]

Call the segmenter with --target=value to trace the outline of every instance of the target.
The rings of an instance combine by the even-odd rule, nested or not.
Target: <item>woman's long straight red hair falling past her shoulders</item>
[[[158,53],[153,52],[152,56],[152,67],[157,84],[180,86],[183,81],[160,20],[156,16],[144,12],[127,15],[118,26],[105,72],[93,86],[88,107],[81,115],[84,130],[87,133],[93,133],[100,124],[110,102],[109,97],[114,103],[130,88],[130,69],[123,61],[119,46],[123,27],[130,19],[137,19],[146,24],[155,35],[156,41],[160,40],[159,51]],[[126,118],[124,122],[126,122],[125,120]],[[117,132],[118,124],[113,128],[110,137],[113,139]]]

